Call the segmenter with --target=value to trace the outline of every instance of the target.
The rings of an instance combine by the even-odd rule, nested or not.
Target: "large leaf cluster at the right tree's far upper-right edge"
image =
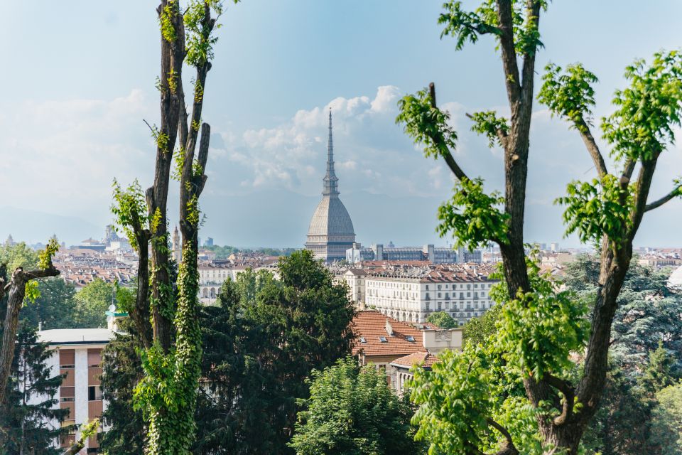
[[[682,54],[654,54],[650,65],[635,60],[625,69],[630,85],[617,90],[617,110],[602,119],[604,138],[617,159],[650,160],[675,139],[682,114]]]

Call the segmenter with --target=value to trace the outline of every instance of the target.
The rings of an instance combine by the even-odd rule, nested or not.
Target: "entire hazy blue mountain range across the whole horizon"
[[[353,221],[357,241],[363,245],[394,242],[398,246],[421,246],[427,243],[447,246],[452,239],[440,239],[435,233],[440,203],[448,197],[401,197],[365,191],[341,193],[341,200]],[[200,237],[213,237],[217,245],[235,247],[303,247],[308,224],[322,198],[293,191],[254,191],[243,196],[218,196],[206,193],[200,200],[206,215]],[[169,200],[171,230],[176,220],[177,202]],[[637,235],[637,246],[674,247],[682,237],[680,224],[682,201],[671,201],[668,211],[647,215],[646,226]],[[575,237],[563,239],[561,207],[526,204],[525,235],[534,242],[560,242],[563,247],[578,247]],[[87,218],[87,219],[86,219]],[[0,242],[11,234],[16,241],[29,244],[45,242],[56,234],[67,245],[77,245],[89,237],[101,239],[104,226],[112,223],[108,206],[97,213],[82,216],[54,215],[37,210],[0,207]]]

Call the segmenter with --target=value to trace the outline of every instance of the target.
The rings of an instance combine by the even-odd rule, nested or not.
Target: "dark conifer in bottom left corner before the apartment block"
[[[62,383],[60,375],[50,376],[46,364],[53,355],[47,343],[38,342],[36,328],[19,329],[6,403],[0,405],[0,453],[56,455],[53,447],[63,434],[60,422],[68,410],[55,408],[55,395]],[[53,427],[52,422],[56,422]]]

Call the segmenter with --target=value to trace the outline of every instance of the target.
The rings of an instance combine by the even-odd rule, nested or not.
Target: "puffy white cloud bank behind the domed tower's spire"
[[[325,105],[298,110],[275,127],[223,133],[222,137],[241,138],[225,141],[225,154],[251,174],[252,188],[316,194],[324,175],[331,109],[341,191],[431,193],[428,171],[433,163],[423,159],[395,124],[400,96],[398,87],[385,85],[373,97],[336,97]]]

